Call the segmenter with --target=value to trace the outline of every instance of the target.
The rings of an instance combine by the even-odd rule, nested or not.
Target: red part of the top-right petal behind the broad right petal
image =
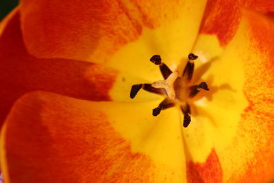
[[[216,35],[221,47],[225,47],[236,34],[243,9],[271,13],[274,11],[274,2],[269,0],[208,0],[199,30],[200,34]]]

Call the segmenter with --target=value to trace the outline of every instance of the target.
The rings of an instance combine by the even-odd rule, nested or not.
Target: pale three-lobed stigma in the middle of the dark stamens
[[[175,90],[174,90],[173,84],[175,80],[177,79],[178,75],[179,75],[179,72],[175,71],[171,73],[171,75],[169,75],[169,77],[166,80],[153,82],[151,86],[153,86],[154,88],[164,88],[166,90],[166,95],[170,99],[175,99]]]

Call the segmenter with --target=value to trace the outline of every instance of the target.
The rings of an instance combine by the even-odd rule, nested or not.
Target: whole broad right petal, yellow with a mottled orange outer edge
[[[212,149],[219,160],[214,166],[221,164],[222,182],[265,182],[274,177],[273,41],[273,21],[248,10],[242,10],[237,32],[225,48],[216,36],[198,38],[193,52],[200,53],[197,64],[209,65],[202,79],[209,82],[210,95],[198,99],[196,123],[184,137],[188,172],[203,182],[220,182],[219,175],[205,178],[207,170],[201,168]]]

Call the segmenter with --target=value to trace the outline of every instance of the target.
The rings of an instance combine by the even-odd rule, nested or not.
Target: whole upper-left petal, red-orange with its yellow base
[[[206,4],[206,0],[60,2],[21,1],[23,37],[30,53],[109,63],[137,70],[136,75],[142,75],[139,65],[146,68],[142,62],[147,64],[154,54],[173,64],[188,56]]]

